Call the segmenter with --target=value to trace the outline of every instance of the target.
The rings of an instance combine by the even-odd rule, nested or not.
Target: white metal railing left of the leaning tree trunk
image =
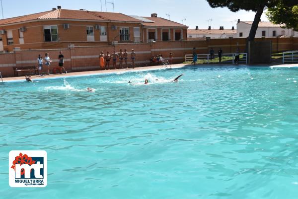
[[[230,54],[223,54],[222,57],[222,63],[227,64],[234,64],[235,61],[235,55],[234,53]],[[198,54],[197,55],[198,61],[200,61],[200,64],[203,63],[216,63],[212,62],[214,58],[219,58],[218,55],[214,55],[214,57],[211,58],[210,54]],[[193,61],[193,55],[185,55],[185,62],[192,62]],[[247,53],[239,53],[239,64],[247,64]]]

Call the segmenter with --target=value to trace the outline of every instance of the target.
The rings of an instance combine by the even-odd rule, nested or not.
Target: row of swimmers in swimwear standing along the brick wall
[[[113,68],[116,69],[116,65],[117,65],[117,60],[119,61],[119,68],[124,68],[123,65],[125,64],[125,67],[128,68],[128,52],[125,49],[124,52],[122,52],[122,49],[120,49],[120,52],[117,53],[116,51],[114,51],[111,55],[109,54],[109,52],[107,52],[106,54],[104,54],[103,52],[100,53],[99,55],[99,62],[100,62],[100,67],[101,69],[110,69],[110,61],[112,60],[112,64],[113,64]],[[134,49],[132,49],[132,52],[130,54],[130,59],[132,61],[132,67],[135,68],[135,61],[136,61],[136,52]],[[124,61],[124,64],[123,64]]]

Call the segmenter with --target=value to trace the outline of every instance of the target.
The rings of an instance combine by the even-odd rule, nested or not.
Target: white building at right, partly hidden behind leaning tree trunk
[[[240,21],[238,19],[236,38],[248,37],[251,25],[252,25],[252,21]],[[282,25],[273,24],[271,22],[260,21],[255,38],[298,37],[298,32],[292,29],[284,29],[281,26]]]

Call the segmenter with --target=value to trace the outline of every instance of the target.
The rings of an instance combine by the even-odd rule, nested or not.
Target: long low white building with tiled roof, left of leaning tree
[[[199,29],[198,26],[196,29],[187,29],[187,38],[206,38],[210,37],[211,39],[223,39],[233,37],[235,38],[237,31],[232,27],[231,29],[224,29],[224,26],[221,26],[219,29],[212,29],[210,26],[208,29]],[[192,40],[189,39],[189,40]],[[194,39],[195,40],[195,39]]]

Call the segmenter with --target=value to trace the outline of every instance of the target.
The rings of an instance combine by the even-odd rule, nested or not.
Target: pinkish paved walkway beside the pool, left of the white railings
[[[172,65],[172,68],[183,67],[185,64],[176,64]],[[135,68],[125,68],[125,69],[110,69],[110,70],[93,70],[93,71],[83,71],[83,72],[69,72],[67,74],[50,74],[45,76],[31,75],[31,78],[34,79],[44,79],[44,78],[57,78],[57,77],[66,77],[66,76],[78,76],[78,75],[88,75],[88,74],[109,74],[116,72],[128,72],[128,71],[142,71],[142,70],[152,70],[160,69],[161,66],[144,66],[144,67],[135,67]],[[163,67],[164,68],[164,67]],[[5,77],[3,81],[15,81],[15,80],[25,80],[25,76],[19,77]]]

